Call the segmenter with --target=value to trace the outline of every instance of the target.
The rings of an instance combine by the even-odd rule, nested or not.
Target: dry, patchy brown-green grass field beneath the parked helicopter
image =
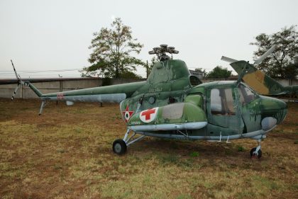
[[[0,198],[298,198],[298,104],[262,142],[152,137],[119,157],[118,105],[0,99]]]

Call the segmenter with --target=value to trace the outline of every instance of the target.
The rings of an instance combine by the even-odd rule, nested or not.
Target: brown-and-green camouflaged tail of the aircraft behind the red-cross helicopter
[[[278,81],[267,76],[260,69],[255,67],[260,64],[261,60],[265,59],[271,52],[275,50],[276,46],[270,47],[262,57],[255,60],[253,64],[245,61],[238,61],[229,57],[221,57],[221,60],[229,62],[231,67],[238,73],[241,80],[248,84],[250,88],[254,89],[261,95],[273,96],[275,98],[283,98],[298,101],[298,85],[282,86]]]

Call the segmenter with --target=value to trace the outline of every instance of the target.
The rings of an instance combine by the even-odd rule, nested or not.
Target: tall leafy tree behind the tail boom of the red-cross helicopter
[[[88,61],[90,67],[84,67],[84,75],[101,74],[104,77],[120,78],[122,74],[136,71],[136,66],[143,62],[131,53],[139,54],[143,45],[131,35],[131,27],[124,25],[121,18],[111,23],[111,28],[101,28],[94,33],[89,49],[93,52]]]

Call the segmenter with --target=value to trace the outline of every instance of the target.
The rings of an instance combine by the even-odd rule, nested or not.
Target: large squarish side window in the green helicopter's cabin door
[[[235,115],[232,89],[212,89],[210,106],[214,115]]]

